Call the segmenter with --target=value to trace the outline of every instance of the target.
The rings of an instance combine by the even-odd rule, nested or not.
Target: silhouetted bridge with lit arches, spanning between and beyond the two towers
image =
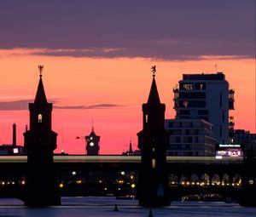
[[[171,201],[182,196],[202,193],[221,194],[235,199],[239,199],[241,195],[242,157],[166,157],[166,161]],[[92,173],[113,174],[119,181],[114,187],[120,189],[120,186],[123,186],[127,190],[131,184],[137,185],[137,172],[141,167],[140,156],[68,155],[55,156],[54,162],[59,184],[68,188],[67,183],[72,183],[69,187],[76,190],[67,190],[69,193],[89,191],[93,185],[85,183],[83,177],[87,175],[86,180],[92,176],[95,178],[95,175],[88,176]],[[15,196],[18,189],[26,186],[26,156],[0,157],[0,168],[0,194],[2,192],[2,196]],[[129,185],[125,186],[124,180]],[[102,179],[98,177],[96,181],[100,182]],[[102,189],[109,192],[107,183],[105,186],[103,184]]]

